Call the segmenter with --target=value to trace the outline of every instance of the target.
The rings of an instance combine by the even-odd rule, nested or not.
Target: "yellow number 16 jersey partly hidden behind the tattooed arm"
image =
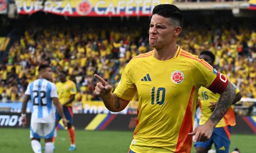
[[[225,77],[228,78],[228,76],[226,76],[226,75],[225,75]],[[239,93],[240,92],[239,88],[237,88],[234,84],[233,84],[233,86],[236,89],[236,94]],[[204,87],[199,88],[198,95],[200,98],[199,106],[201,109],[201,118],[199,120],[199,125],[203,125],[204,123],[206,123],[206,121],[208,120],[208,118],[210,118],[210,116],[212,114],[212,111],[209,108],[209,106],[211,105],[210,102],[217,102],[220,95],[218,93],[215,94],[215,93],[211,92],[209,89],[204,88]],[[216,127],[225,127],[228,125],[230,125],[230,126],[236,125],[235,112],[234,112],[233,106],[230,106],[227,113],[220,120],[220,122],[216,125]]]

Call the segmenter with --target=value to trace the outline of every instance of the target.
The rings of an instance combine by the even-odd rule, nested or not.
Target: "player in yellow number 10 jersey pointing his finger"
[[[137,122],[129,153],[190,153],[194,141],[206,141],[235,98],[235,88],[211,65],[177,46],[183,15],[175,5],[154,7],[149,24],[153,51],[130,60],[119,85],[100,76],[95,94],[110,111],[123,110],[138,93]],[[221,86],[215,86],[220,82]],[[220,94],[218,105],[204,125],[193,131],[198,90],[204,86]]]

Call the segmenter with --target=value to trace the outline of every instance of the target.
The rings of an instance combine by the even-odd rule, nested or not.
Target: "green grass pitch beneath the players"
[[[127,153],[133,132],[76,130],[76,153]],[[58,131],[55,153],[67,153],[69,135]],[[230,149],[240,148],[242,153],[256,153],[256,136],[232,134]],[[41,140],[42,146],[44,141]],[[0,153],[33,153],[28,129],[0,128]],[[195,153],[192,146],[191,153]]]

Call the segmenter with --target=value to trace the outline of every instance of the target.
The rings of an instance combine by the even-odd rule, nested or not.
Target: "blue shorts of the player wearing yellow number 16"
[[[196,143],[194,143],[194,147],[203,147],[207,150],[210,150],[212,144],[214,143],[217,153],[228,153],[230,146],[230,133],[230,125],[214,128],[213,134],[211,135],[211,138],[209,140],[207,140],[206,142],[197,141]]]

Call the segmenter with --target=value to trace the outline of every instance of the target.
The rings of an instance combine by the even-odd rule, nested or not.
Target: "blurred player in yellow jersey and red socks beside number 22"
[[[68,120],[68,130],[69,130],[69,137],[71,141],[71,145],[69,147],[69,151],[76,150],[75,145],[75,132],[72,128],[73,123],[73,111],[72,111],[72,102],[75,99],[76,95],[76,84],[71,80],[66,80],[66,72],[61,71],[59,72],[59,82],[56,83],[57,87],[57,93],[59,95],[59,101],[62,104],[64,114],[66,116],[66,119]],[[56,112],[56,133],[57,133],[57,126],[59,123],[59,120],[61,118],[59,117],[58,112]],[[55,142],[55,137],[54,141]]]

